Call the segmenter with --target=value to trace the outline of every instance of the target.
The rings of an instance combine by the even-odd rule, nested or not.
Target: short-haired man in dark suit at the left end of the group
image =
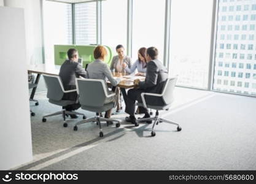
[[[82,66],[77,62],[79,59],[78,52],[74,48],[68,50],[68,59],[60,67],[60,78],[62,80],[64,90],[76,89],[76,77],[86,77],[86,72]],[[62,99],[77,101],[77,92],[65,93]],[[79,109],[80,104],[67,105],[63,107],[68,111]],[[77,118],[77,115],[70,115],[71,118]]]

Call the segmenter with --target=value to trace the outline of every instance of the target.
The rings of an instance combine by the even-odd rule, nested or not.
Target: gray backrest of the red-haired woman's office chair
[[[101,79],[76,79],[79,102],[83,106],[102,107],[107,98],[106,83]]]

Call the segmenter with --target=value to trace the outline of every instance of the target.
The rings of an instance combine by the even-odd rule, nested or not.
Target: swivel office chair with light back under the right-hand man
[[[154,122],[152,125],[152,132],[151,132],[152,137],[155,136],[155,131],[154,131],[155,125],[158,125],[158,123],[161,123],[161,122],[166,122],[166,123],[170,123],[173,125],[177,125],[177,131],[181,131],[181,127],[179,126],[179,124],[174,123],[173,121],[169,121],[164,118],[158,117],[158,115],[159,115],[158,110],[169,110],[169,107],[173,103],[173,101],[174,101],[173,91],[174,91],[176,82],[177,82],[176,77],[167,79],[165,82],[165,85],[163,87],[163,92],[161,94],[141,93],[142,104],[139,104],[139,106],[143,106],[145,108],[150,108],[150,109],[155,109],[157,111],[155,112],[155,117],[141,118],[141,119],[136,120],[136,123],[139,123],[141,121],[152,121],[153,120]],[[150,99],[151,104],[149,102],[149,99]],[[154,102],[153,104],[152,104],[152,101]],[[158,102],[158,104],[155,102]]]

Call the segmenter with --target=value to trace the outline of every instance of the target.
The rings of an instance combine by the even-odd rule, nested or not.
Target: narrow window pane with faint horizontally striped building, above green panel
[[[76,45],[96,44],[96,2],[75,4]]]

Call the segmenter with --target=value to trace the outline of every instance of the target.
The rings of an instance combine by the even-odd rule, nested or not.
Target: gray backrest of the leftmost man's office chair
[[[63,98],[64,88],[59,76],[43,75],[47,87],[47,98],[60,101]]]

